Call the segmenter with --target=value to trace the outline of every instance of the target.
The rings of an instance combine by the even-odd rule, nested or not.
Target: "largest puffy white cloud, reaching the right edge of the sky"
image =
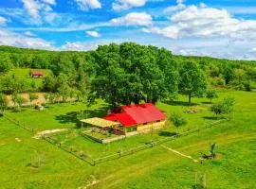
[[[239,35],[247,38],[256,32],[256,21],[235,19],[226,9],[190,6],[172,15],[170,21],[170,26],[155,26],[148,31],[172,39]]]

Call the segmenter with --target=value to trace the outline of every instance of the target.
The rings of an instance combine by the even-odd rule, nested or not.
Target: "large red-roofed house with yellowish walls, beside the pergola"
[[[145,103],[121,106],[119,112],[109,113],[103,119],[118,122],[119,131],[123,133],[160,129],[166,123],[166,115],[159,111],[154,104]]]

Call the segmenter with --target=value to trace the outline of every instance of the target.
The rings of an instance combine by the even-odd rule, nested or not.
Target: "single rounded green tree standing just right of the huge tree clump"
[[[192,61],[185,62],[180,69],[179,91],[192,97],[202,97],[207,90],[207,81],[204,72]]]

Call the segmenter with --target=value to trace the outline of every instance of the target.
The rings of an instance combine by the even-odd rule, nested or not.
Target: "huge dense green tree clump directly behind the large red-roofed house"
[[[98,97],[112,104],[146,102],[177,94],[177,64],[170,51],[136,43],[100,46],[93,54],[96,76],[92,81]]]

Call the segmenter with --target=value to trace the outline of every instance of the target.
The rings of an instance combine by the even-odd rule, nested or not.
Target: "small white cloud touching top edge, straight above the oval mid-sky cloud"
[[[116,0],[116,2],[112,4],[112,9],[122,10],[142,7],[146,4],[146,1],[147,0]]]

